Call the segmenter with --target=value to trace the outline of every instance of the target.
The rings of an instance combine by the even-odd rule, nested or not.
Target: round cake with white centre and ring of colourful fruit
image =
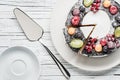
[[[65,26],[66,43],[78,54],[103,57],[120,47],[120,5],[114,0],[79,0]]]

